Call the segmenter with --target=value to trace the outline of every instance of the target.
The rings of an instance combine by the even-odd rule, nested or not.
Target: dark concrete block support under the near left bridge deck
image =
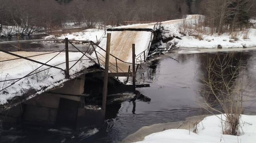
[[[103,110],[85,109],[85,75],[0,113],[4,123],[82,129],[104,123]]]

